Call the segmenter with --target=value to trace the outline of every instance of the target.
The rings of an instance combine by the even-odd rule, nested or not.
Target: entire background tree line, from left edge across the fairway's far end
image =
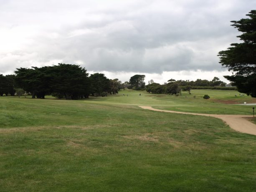
[[[160,85],[153,80],[145,86],[145,75],[134,75],[129,82],[122,83],[116,79],[108,79],[103,73],[94,73],[89,76],[85,68],[78,65],[58,63],[54,66],[41,68],[17,68],[15,75],[3,76],[0,74],[0,96],[18,96],[26,91],[32,98],[44,99],[52,95],[58,99],[83,99],[92,96],[107,96],[116,94],[125,87],[135,90],[145,90],[151,93],[177,94],[181,90],[188,91],[195,86],[225,86],[223,81],[214,77],[212,81],[197,79],[183,81],[174,79]]]

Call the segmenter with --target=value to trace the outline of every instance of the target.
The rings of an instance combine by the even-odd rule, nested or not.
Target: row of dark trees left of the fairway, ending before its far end
[[[0,96],[14,96],[15,90],[22,88],[32,98],[44,99],[52,95],[59,99],[82,99],[89,95],[116,94],[123,88],[118,79],[108,79],[103,73],[89,76],[85,68],[73,64],[17,68],[14,72],[15,75],[0,74]]]

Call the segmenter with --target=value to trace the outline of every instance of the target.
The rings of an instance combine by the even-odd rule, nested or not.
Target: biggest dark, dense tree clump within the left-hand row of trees
[[[65,99],[89,96],[88,73],[77,65],[59,63],[41,68],[18,68],[15,74],[17,86],[31,93],[32,98],[44,99],[47,94]]]

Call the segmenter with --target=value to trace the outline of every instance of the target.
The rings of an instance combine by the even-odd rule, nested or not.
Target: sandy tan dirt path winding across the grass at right
[[[187,112],[180,112],[180,111],[167,111],[167,110],[161,110],[161,109],[154,109],[150,106],[139,106],[139,107],[141,107],[142,109],[149,109],[152,111],[161,111],[161,112],[167,112],[167,113],[216,117],[216,118],[222,119],[224,122],[226,122],[226,124],[228,124],[232,129],[236,131],[256,135],[256,124],[253,124],[250,121],[247,121],[246,119],[244,119],[244,117],[251,117],[249,115],[195,114],[195,113],[187,113]]]

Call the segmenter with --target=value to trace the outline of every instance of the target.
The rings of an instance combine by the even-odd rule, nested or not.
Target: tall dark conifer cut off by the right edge
[[[231,21],[238,31],[237,37],[243,43],[232,43],[226,51],[220,51],[220,63],[232,71],[233,75],[224,76],[237,86],[238,91],[256,97],[256,10],[247,14],[249,18]]]

